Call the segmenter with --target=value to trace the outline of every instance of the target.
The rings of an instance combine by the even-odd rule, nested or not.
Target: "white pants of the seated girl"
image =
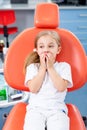
[[[69,117],[62,110],[30,109],[27,111],[24,130],[69,130]]]

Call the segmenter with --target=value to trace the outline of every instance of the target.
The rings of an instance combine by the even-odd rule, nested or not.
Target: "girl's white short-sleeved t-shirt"
[[[72,87],[73,83],[70,65],[66,62],[55,62],[54,68],[63,79],[69,82],[67,88]],[[37,73],[38,67],[35,64],[30,64],[27,67],[27,72],[25,76],[26,86],[27,82],[29,80],[32,80],[34,76],[37,75]],[[40,107],[44,109],[63,109],[67,112],[67,107],[64,103],[66,93],[67,89],[64,92],[58,92],[58,90],[54,87],[54,84],[49,77],[48,72],[46,72],[45,79],[39,92],[30,92],[28,108]]]

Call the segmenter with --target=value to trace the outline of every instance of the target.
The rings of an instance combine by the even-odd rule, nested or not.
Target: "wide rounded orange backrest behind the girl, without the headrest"
[[[32,28],[23,31],[16,37],[9,48],[4,64],[4,74],[8,84],[13,88],[27,90],[24,86],[24,59],[28,53],[33,50],[35,36],[41,30],[43,29]],[[78,89],[82,87],[86,81],[85,52],[80,41],[71,32],[57,28],[54,30],[60,34],[62,41],[62,51],[58,58],[60,61],[67,61],[72,66],[74,86],[69,89],[69,91]]]

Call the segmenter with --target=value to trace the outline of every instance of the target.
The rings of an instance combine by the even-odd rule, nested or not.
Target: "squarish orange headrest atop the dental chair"
[[[57,28],[59,26],[59,7],[57,4],[38,4],[34,24],[37,28]]]

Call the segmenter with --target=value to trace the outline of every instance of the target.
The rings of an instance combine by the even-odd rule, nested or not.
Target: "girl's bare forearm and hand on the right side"
[[[46,56],[47,59],[47,70],[50,75],[50,78],[53,81],[54,86],[57,88],[58,91],[62,92],[67,88],[68,81],[64,80],[55,70],[53,64],[55,62],[54,56],[49,53]]]

